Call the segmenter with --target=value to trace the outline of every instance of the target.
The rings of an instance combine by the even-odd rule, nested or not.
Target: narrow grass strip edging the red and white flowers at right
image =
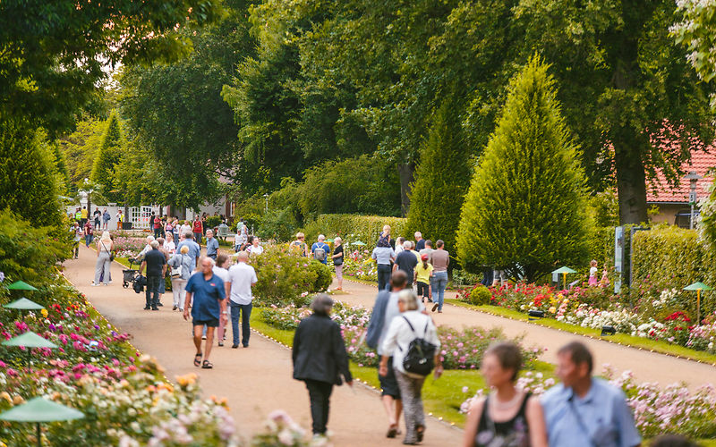
[[[582,327],[578,325],[570,325],[561,321],[557,321],[553,318],[541,318],[537,320],[529,320],[528,316],[523,312],[518,312],[513,309],[500,308],[499,306],[474,306],[472,304],[465,303],[459,299],[446,299],[445,302],[459,306],[461,308],[472,308],[474,310],[485,312],[496,316],[505,316],[514,320],[524,321],[533,325],[541,325],[544,327],[550,327],[559,331],[565,331],[568,333],[576,333],[579,335],[585,335],[594,339],[600,339],[605,342],[612,342],[629,346],[639,350],[649,350],[650,352],[659,352],[678,358],[686,358],[689,360],[695,360],[697,362],[708,363],[716,366],[716,355],[709,354],[701,350],[690,350],[683,346],[671,344],[669,342],[661,342],[657,340],[650,340],[644,337],[636,337],[628,333],[616,333],[609,335],[608,337],[601,337],[601,331],[599,329],[592,329],[590,327]]]

